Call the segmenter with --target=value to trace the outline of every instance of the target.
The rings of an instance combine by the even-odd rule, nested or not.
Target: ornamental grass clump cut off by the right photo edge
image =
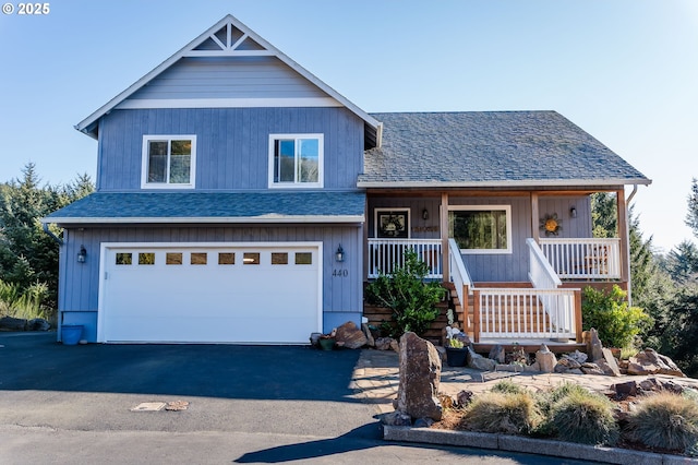
[[[628,418],[628,437],[649,448],[690,449],[698,442],[698,404],[660,393],[642,401]]]

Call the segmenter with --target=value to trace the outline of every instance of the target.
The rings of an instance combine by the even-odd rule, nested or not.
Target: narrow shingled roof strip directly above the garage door
[[[44,223],[221,223],[363,218],[363,192],[95,192],[51,213]],[[356,219],[354,219],[356,220]]]

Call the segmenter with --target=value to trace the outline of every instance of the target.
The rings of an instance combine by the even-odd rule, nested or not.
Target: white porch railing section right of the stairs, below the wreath
[[[543,254],[557,275],[579,279],[619,279],[621,239],[541,238]]]

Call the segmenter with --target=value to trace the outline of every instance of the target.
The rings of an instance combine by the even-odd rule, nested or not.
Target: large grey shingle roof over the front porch
[[[555,111],[372,114],[360,188],[583,187],[651,180]]]

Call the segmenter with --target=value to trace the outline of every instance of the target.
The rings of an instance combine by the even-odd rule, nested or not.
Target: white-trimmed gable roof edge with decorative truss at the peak
[[[198,37],[186,44],[182,49],[161,62],[154,70],[129,86],[125,91],[107,102],[95,112],[75,124],[75,129],[96,139],[99,119],[115,109],[119,104],[128,99],[139,90],[143,88],[151,81],[172,67],[180,59],[185,57],[263,57],[272,56],[278,58],[301,76],[325,92],[341,106],[348,108],[364,121],[366,143],[369,146],[380,145],[381,123],[363,111],[357,105],[349,102],[337,91],[322,82],[310,71],[291,60],[279,49],[266,41],[255,32],[245,26],[234,16],[228,14],[216,24],[206,29]]]

